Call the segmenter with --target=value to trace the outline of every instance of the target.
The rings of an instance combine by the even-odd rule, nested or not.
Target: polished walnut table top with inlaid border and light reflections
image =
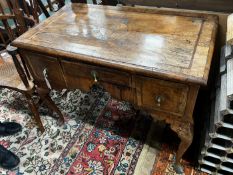
[[[13,45],[135,74],[206,84],[217,18],[68,4]]]

